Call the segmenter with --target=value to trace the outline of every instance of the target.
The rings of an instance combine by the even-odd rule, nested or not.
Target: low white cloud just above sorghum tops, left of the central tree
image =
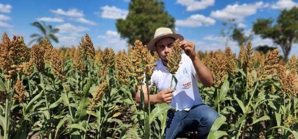
[[[100,44],[103,47],[111,47],[115,52],[127,49],[127,42],[120,38],[120,34],[116,31],[108,30],[105,35],[99,35],[98,38],[103,39],[104,43]]]

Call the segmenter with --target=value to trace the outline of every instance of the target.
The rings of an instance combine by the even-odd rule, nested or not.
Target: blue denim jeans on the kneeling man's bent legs
[[[207,139],[209,131],[219,118],[218,113],[206,104],[193,106],[189,111],[167,112],[165,139],[174,139],[184,131],[197,131],[198,139]]]

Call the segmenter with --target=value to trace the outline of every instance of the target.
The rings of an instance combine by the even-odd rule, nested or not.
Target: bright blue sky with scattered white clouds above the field
[[[162,0],[165,10],[175,19],[175,32],[196,44],[196,50],[224,49],[224,37],[220,31],[230,18],[251,33],[257,18],[276,18],[282,9],[297,5],[297,0]],[[28,43],[39,30],[30,25],[34,21],[59,28],[59,43],[54,47],[77,46],[80,37],[88,33],[94,47],[111,47],[115,51],[127,48],[125,39],[117,32],[116,19],[125,18],[129,0],[0,0],[0,33],[11,37],[21,35]],[[255,36],[253,46],[269,45],[270,39]],[[228,41],[233,52],[239,52],[236,42]],[[279,47],[279,46],[278,46]],[[281,49],[280,49],[281,50]],[[281,52],[281,51],[280,51]],[[291,53],[298,55],[298,45]]]

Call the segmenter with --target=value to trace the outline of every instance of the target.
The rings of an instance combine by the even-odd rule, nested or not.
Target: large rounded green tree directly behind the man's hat
[[[175,19],[164,10],[164,3],[157,0],[131,0],[126,19],[117,19],[116,27],[121,38],[129,44],[141,40],[144,44],[153,38],[155,29],[168,27],[174,30]]]

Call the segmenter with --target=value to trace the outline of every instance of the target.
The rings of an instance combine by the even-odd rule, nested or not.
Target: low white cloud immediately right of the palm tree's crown
[[[80,32],[89,30],[86,27],[75,26],[75,25],[72,25],[70,23],[57,25],[56,28],[59,29],[60,33],[70,33],[72,36],[82,36],[82,35],[79,34]]]

